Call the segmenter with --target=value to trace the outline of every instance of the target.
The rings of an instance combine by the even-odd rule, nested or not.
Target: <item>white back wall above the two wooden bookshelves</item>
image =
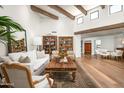
[[[59,18],[59,20],[42,19],[39,30],[34,35],[46,35],[52,31],[56,31],[58,36],[73,35],[73,21],[68,18]],[[41,29],[42,28],[42,29]]]

